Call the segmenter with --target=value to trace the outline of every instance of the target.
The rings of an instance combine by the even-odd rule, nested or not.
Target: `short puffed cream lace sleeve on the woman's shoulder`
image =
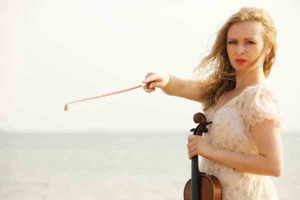
[[[280,134],[285,130],[285,120],[280,113],[278,98],[266,86],[254,87],[244,94],[241,114],[247,125],[254,125],[261,123],[264,119],[270,119],[279,128]]]

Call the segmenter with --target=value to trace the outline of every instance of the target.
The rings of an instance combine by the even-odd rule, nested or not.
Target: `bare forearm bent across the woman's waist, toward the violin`
[[[281,172],[276,162],[260,154],[240,153],[216,148],[209,159],[218,161],[239,171],[259,175],[279,176]]]

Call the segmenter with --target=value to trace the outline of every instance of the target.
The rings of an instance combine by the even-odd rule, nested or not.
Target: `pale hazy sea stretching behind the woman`
[[[282,134],[279,199],[298,199],[300,132]],[[191,132],[0,132],[0,200],[183,199]],[[199,161],[201,157],[199,157]]]

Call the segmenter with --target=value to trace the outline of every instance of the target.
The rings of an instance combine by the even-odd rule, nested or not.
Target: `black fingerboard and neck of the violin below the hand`
[[[191,200],[199,199],[199,168],[198,168],[198,155],[195,155],[191,158],[191,180],[190,180],[190,192]]]

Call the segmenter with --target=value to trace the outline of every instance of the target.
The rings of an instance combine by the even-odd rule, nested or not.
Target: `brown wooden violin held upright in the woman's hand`
[[[208,132],[207,122],[203,113],[197,112],[193,115],[195,123],[199,123],[196,128],[190,129],[194,135],[202,136],[203,132]],[[191,158],[191,178],[186,182],[183,190],[184,200],[221,200],[221,185],[214,175],[201,172],[198,167],[198,155]]]

